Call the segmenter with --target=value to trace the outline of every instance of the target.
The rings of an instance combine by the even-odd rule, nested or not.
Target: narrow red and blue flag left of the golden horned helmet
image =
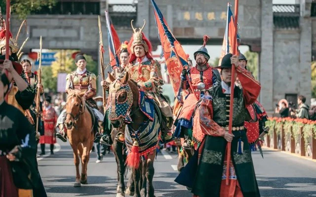
[[[118,60],[118,54],[116,54],[120,47],[118,33],[114,29],[114,26],[110,21],[109,13],[107,11],[105,11],[105,19],[106,19],[107,29],[108,29],[110,61],[112,60],[111,66],[112,67],[119,66],[120,63]]]

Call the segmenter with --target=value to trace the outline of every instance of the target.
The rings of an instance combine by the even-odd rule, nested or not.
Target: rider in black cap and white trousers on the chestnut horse
[[[98,122],[102,122],[103,114],[98,110],[96,102],[92,99],[96,95],[96,76],[95,74],[87,71],[86,60],[82,54],[78,54],[75,58],[77,70],[71,72],[66,77],[66,93],[70,90],[79,90],[84,92],[86,104],[93,109],[96,116],[96,123],[94,126],[95,142],[100,141],[101,134],[98,132]],[[64,122],[66,120],[66,110],[63,110],[58,117],[57,124],[59,132],[56,137],[60,138],[63,142],[67,141]]]

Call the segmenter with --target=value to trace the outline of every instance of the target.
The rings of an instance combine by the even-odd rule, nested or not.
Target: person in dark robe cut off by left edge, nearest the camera
[[[6,60],[7,61],[7,60]],[[7,62],[5,63],[6,66]],[[24,114],[5,102],[10,86],[0,75],[0,197],[33,197],[38,187],[34,129]]]

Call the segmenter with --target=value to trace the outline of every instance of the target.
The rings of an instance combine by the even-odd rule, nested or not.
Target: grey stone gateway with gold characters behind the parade
[[[225,32],[227,4],[222,0],[157,0],[158,7],[173,34],[182,44],[201,44],[202,36],[211,37],[209,44],[221,45]],[[295,5],[273,5],[272,0],[240,0],[238,23],[241,44],[259,54],[260,101],[272,112],[279,99],[296,102],[297,95],[311,98],[311,61],[316,54],[315,2],[301,0]],[[234,8],[234,4],[232,5]],[[77,49],[98,60],[98,14],[108,9],[120,40],[131,36],[130,20],[141,26],[155,47],[158,31],[150,0],[136,4],[108,4],[106,0],[60,0],[56,7],[44,8],[28,16],[30,40],[24,48],[28,53],[39,48]],[[233,10],[234,12],[234,10]],[[13,19],[12,32],[19,22]],[[106,45],[105,17],[102,31]],[[107,46],[105,46],[107,49]],[[105,56],[105,62],[108,56]]]

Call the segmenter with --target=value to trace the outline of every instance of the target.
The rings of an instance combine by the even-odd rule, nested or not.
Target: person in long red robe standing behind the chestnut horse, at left
[[[57,123],[57,114],[55,109],[51,106],[51,97],[45,97],[45,107],[43,110],[44,118],[44,135],[40,136],[40,155],[45,155],[45,144],[50,144],[50,154],[54,154],[55,125]]]

